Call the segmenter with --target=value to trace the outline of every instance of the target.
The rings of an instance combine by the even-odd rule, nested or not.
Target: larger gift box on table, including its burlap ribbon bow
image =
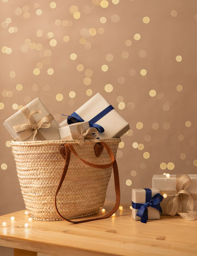
[[[168,215],[167,212],[171,212],[169,208],[168,208],[168,211],[166,212],[166,209],[167,209],[167,206],[169,205],[169,202],[173,198],[175,198],[175,195],[178,195],[180,197],[180,208],[177,209],[177,212],[188,212],[187,204],[188,204],[188,201],[190,200],[189,195],[191,195],[191,197],[194,200],[193,210],[197,211],[197,175],[196,174],[170,175],[170,177],[166,177],[165,175],[153,175],[152,186],[159,189],[160,194],[163,195],[163,201],[161,202],[163,215]],[[181,193],[179,194],[179,192]],[[172,202],[170,204],[172,206]],[[191,208],[190,210],[192,211]],[[174,215],[174,214],[175,213],[170,215]]]

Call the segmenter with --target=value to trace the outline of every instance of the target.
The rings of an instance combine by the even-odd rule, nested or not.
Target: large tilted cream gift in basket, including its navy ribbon
[[[106,99],[97,93],[78,110],[60,123],[65,126],[74,122],[88,121],[90,127],[97,128],[99,138],[119,138],[129,130],[128,122],[113,108]]]

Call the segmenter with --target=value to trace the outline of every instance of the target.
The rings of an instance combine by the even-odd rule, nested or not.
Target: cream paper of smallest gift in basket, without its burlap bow
[[[81,122],[80,124],[82,125],[83,132],[86,132],[87,129],[90,128],[89,122]],[[62,140],[65,140],[66,137],[70,137],[72,139],[72,134],[70,132],[77,132],[76,124],[59,128],[59,134]]]

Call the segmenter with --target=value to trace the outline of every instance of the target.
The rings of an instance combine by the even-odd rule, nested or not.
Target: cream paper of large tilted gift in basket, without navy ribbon
[[[110,103],[97,93],[75,111],[84,121],[90,121],[96,115],[104,111]],[[109,113],[95,122],[104,128],[99,138],[119,138],[129,130],[128,122],[113,108]],[[60,123],[60,127],[67,125],[67,119]]]

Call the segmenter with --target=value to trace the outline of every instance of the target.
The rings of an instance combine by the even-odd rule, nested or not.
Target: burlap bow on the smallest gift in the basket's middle
[[[87,129],[86,132],[84,132],[82,124],[76,123],[76,130],[77,131],[70,131],[70,136],[67,136],[63,138],[63,140],[78,140],[77,143],[81,146],[84,145],[84,140],[91,140],[91,141],[96,141],[98,140],[99,132],[96,128],[90,127]]]

